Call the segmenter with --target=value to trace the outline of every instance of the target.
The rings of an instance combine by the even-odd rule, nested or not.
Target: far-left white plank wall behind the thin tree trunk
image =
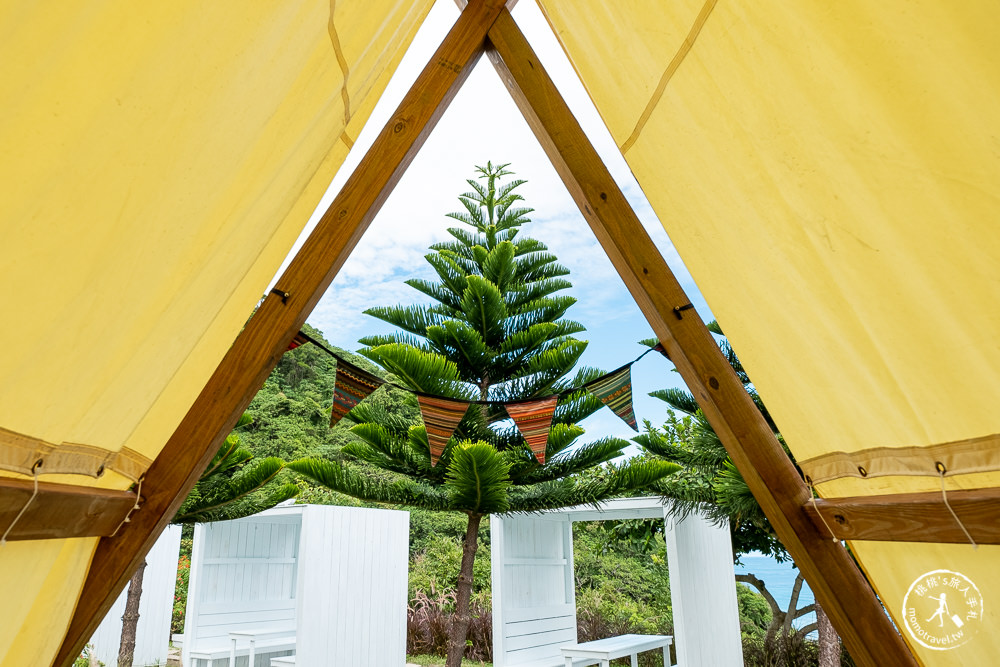
[[[139,623],[135,635],[134,667],[167,664],[180,546],[181,527],[167,526],[146,556],[142,597],[139,599]],[[97,659],[109,667],[118,664],[122,614],[125,613],[127,594],[128,586],[115,600],[94,636],[87,642],[93,645]]]

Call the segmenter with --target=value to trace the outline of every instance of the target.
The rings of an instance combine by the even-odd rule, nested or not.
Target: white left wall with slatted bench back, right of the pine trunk
[[[490,517],[493,664],[551,662],[576,643],[573,530],[566,516]]]

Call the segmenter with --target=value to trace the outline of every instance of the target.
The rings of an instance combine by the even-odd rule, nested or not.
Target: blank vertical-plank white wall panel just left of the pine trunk
[[[402,667],[410,515],[306,506],[296,664]]]

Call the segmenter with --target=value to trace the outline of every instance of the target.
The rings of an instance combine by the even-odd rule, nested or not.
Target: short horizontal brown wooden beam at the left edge
[[[0,533],[24,509],[7,533],[8,541],[105,537],[134,506],[131,491],[39,482],[35,494],[31,480],[0,477]]]

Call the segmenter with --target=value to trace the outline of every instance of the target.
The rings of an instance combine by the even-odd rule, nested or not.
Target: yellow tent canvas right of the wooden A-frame
[[[1000,433],[995,3],[540,5],[798,460]],[[939,490],[933,463],[819,490]],[[948,488],[997,486],[973,469]],[[997,562],[857,553],[900,627],[917,570],[983,585]],[[985,664],[996,620],[952,651],[907,641]]]

